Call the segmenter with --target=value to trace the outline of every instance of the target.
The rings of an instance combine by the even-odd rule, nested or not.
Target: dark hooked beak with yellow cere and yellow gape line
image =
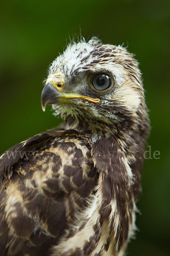
[[[55,73],[47,79],[41,94],[41,107],[43,111],[45,111],[46,104],[68,102],[67,99],[71,98],[82,98],[94,103],[98,103],[100,101],[99,99],[93,99],[77,93],[65,93],[62,90],[63,87],[64,76],[62,73]]]

